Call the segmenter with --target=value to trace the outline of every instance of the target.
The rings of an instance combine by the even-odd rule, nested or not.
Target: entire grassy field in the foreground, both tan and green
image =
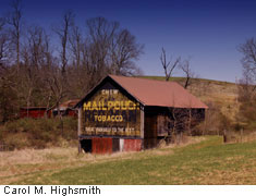
[[[0,154],[0,184],[256,184],[256,142],[187,145],[105,156],[75,148]]]

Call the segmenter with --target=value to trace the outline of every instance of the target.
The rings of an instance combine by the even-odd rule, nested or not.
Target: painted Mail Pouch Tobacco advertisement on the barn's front
[[[109,83],[84,102],[83,114],[85,135],[141,135],[139,103]]]

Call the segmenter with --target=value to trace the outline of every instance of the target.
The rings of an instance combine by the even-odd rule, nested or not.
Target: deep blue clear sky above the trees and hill
[[[0,14],[11,0],[0,0]],[[235,82],[242,77],[237,48],[256,36],[253,0],[23,0],[26,23],[49,27],[72,10],[78,24],[103,16],[127,28],[144,53],[136,64],[145,75],[163,75],[160,52],[190,59],[197,77]],[[182,76],[175,71],[174,76]]]

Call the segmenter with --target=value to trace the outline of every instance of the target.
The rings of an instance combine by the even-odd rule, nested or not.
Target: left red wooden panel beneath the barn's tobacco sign
[[[93,138],[93,154],[111,154],[112,138]]]

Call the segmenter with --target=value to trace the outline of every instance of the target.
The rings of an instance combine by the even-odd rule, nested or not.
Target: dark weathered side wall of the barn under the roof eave
[[[188,118],[191,130],[205,119],[205,109],[145,107],[144,148],[157,147],[162,138],[173,136],[174,119],[175,132],[187,131]],[[193,133],[190,133],[193,134]]]

